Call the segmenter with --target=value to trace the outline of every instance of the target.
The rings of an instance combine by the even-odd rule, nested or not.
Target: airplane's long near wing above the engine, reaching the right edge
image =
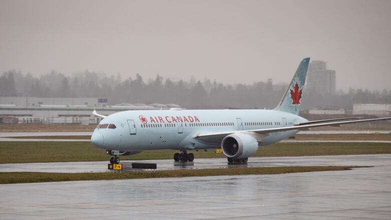
[[[223,138],[227,135],[237,133],[237,132],[243,132],[243,133],[249,133],[250,135],[254,136],[258,141],[260,141],[263,137],[269,135],[270,133],[274,133],[274,132],[290,131],[290,130],[307,130],[308,128],[314,128],[314,127],[335,126],[335,125],[341,125],[341,124],[353,124],[353,123],[383,121],[383,120],[391,120],[391,117],[353,120],[353,121],[328,122],[328,123],[315,123],[315,124],[305,124],[305,125],[294,125],[294,126],[290,126],[290,127],[265,128],[265,129],[255,129],[255,130],[241,130],[241,131],[235,130],[235,131],[199,133],[199,134],[195,135],[194,138],[200,139],[201,141],[205,141],[205,142],[210,142],[210,141],[217,142],[218,139],[223,140]]]

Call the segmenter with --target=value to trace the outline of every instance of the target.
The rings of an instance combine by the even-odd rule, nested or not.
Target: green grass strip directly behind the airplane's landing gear
[[[136,155],[120,156],[121,160],[172,159],[176,150],[144,151]],[[190,151],[197,158],[224,158],[214,150]],[[267,156],[317,156],[317,155],[353,155],[353,154],[390,154],[389,143],[277,143],[260,147],[253,155]],[[11,156],[10,156],[11,155]],[[37,162],[78,162],[105,161],[110,156],[105,150],[93,146],[90,142],[51,142],[51,141],[1,141],[0,163],[37,163]]]

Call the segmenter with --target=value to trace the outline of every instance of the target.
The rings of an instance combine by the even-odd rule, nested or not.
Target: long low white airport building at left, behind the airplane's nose
[[[0,97],[0,116],[6,123],[54,123],[96,124],[100,118],[92,115],[110,115],[127,110],[160,110],[180,108],[176,104],[129,104],[107,105],[107,98],[40,98]],[[11,118],[14,118],[13,120]]]

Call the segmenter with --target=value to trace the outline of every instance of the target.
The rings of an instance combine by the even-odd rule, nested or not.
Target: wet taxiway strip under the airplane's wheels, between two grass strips
[[[126,157],[122,157],[126,158]],[[369,160],[369,161],[368,161]],[[373,155],[328,155],[291,157],[250,157],[248,164],[228,165],[226,158],[195,158],[193,162],[173,160],[123,160],[125,169],[132,162],[156,163],[157,170],[175,169],[220,169],[228,167],[270,167],[270,166],[334,166],[360,165],[380,166],[391,161],[391,154]],[[57,163],[7,163],[0,164],[0,172],[107,172],[108,161],[57,162]]]

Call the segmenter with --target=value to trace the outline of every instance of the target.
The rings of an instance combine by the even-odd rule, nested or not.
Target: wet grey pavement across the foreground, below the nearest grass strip
[[[265,166],[286,162],[374,167],[1,185],[0,219],[390,219],[390,159],[391,155],[262,158]]]

